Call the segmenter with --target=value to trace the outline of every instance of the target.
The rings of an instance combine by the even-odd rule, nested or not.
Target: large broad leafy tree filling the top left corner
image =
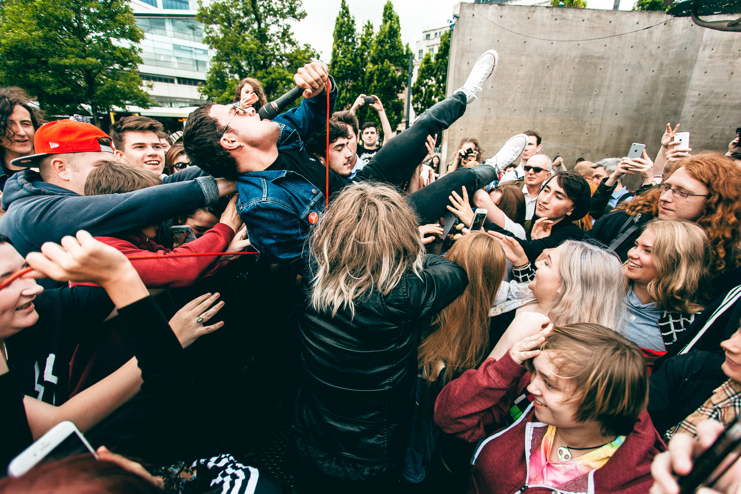
[[[136,27],[126,0],[5,0],[0,83],[23,87],[51,115],[150,107]],[[90,111],[83,105],[89,105]]]

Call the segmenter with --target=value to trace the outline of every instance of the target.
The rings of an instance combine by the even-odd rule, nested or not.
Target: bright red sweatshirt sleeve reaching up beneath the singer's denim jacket
[[[142,233],[123,236],[123,238],[96,237],[104,244],[116,247],[124,253],[124,256],[146,256],[151,253],[162,256],[157,259],[131,261],[147,288],[190,287],[197,279],[215,273],[227,263],[223,261],[215,264],[219,256],[171,257],[169,254],[225,252],[232,238],[234,238],[234,230],[223,223],[217,223],[201,237],[177,249],[162,247]],[[70,283],[70,286],[80,284],[88,283]]]

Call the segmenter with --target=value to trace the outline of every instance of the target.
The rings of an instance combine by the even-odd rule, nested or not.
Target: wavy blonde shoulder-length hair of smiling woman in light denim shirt
[[[656,278],[648,293],[657,308],[670,313],[697,313],[703,309],[700,283],[708,276],[710,244],[705,230],[693,221],[653,219],[645,230],[656,234],[651,263]],[[624,264],[627,269],[628,261]],[[628,277],[625,277],[629,281]],[[627,291],[627,290],[626,290]]]

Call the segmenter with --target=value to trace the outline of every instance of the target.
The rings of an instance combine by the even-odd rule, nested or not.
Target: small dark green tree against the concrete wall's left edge
[[[451,32],[445,31],[440,38],[440,46],[434,61],[430,53],[426,53],[422,63],[419,64],[417,79],[412,86],[412,106],[417,115],[445,99],[450,51]]]

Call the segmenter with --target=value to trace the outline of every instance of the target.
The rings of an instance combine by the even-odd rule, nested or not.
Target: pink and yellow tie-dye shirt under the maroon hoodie
[[[549,425],[540,441],[540,447],[530,455],[528,485],[559,487],[580,475],[602,467],[617,451],[622,441],[625,441],[625,435],[619,435],[611,443],[579,456],[579,458],[566,461],[548,460],[554,441],[556,441],[556,427]]]

